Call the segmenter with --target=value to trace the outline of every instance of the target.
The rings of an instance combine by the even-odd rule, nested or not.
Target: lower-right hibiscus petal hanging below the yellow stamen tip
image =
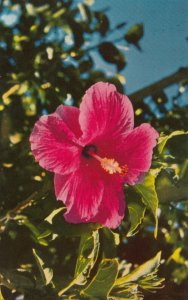
[[[125,214],[125,197],[122,183],[113,178],[106,181],[103,199],[99,212],[92,222],[102,224],[109,228],[117,228]]]

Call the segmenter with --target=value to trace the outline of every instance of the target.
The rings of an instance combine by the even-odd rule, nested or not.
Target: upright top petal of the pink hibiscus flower
[[[101,135],[124,134],[133,128],[132,104],[113,84],[98,82],[83,97],[79,122],[87,142]]]

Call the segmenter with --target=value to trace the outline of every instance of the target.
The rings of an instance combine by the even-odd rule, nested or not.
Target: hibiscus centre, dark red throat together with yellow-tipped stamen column
[[[95,158],[100,162],[101,167],[109,174],[119,173],[122,176],[126,175],[128,172],[128,166],[120,166],[119,163],[114,158],[100,157],[96,154],[97,148],[94,145],[87,145],[83,148],[82,154],[86,158]]]

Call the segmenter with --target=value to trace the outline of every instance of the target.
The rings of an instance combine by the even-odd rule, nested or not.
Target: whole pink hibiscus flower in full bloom
[[[133,126],[128,97],[103,82],[86,91],[80,109],[60,105],[35,124],[32,153],[55,173],[55,194],[66,205],[68,222],[121,223],[123,185],[134,185],[149,170],[158,137],[149,124]]]

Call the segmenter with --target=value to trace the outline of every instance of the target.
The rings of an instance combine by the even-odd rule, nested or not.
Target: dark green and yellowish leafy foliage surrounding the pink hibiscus
[[[34,162],[28,137],[40,115],[61,103],[78,106],[97,81],[123,92],[124,76],[96,69],[93,52],[123,70],[126,58],[109,34],[123,31],[126,22],[111,28],[106,12],[94,11],[87,1],[17,0],[0,6],[1,15],[17,12],[14,24],[0,21],[0,299],[151,299],[148,291],[163,285],[159,250],[166,289],[156,299],[161,293],[177,299],[174,290],[188,278],[188,112],[178,105],[181,93],[170,111],[166,91],[151,91],[149,102],[142,94],[132,99],[136,125],[147,121],[169,135],[161,135],[145,181],[125,188],[122,226],[112,232],[98,224],[68,224],[53,178]],[[143,34],[143,24],[134,25],[118,43],[139,48]]]

